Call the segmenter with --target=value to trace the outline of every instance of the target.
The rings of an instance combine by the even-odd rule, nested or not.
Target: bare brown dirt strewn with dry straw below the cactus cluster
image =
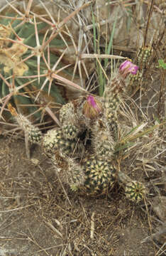
[[[34,164],[23,139],[1,137],[0,145],[1,256],[155,255],[153,242],[141,243],[150,235],[147,214],[121,188],[99,198],[65,184],[64,191],[38,146],[31,150]]]

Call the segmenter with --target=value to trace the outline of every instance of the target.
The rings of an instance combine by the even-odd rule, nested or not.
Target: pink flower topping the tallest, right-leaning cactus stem
[[[128,74],[136,75],[138,66],[134,65],[130,60],[125,60],[119,67],[119,73],[123,78],[126,78]]]

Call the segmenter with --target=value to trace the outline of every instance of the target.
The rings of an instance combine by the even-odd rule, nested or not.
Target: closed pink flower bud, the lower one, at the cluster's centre
[[[89,95],[83,107],[83,114],[85,117],[95,119],[102,111],[101,102],[96,100],[95,97]]]

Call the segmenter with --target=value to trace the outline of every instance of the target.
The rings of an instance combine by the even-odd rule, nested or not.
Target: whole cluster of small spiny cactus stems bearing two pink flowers
[[[52,159],[53,166],[65,172],[67,183],[73,191],[84,191],[87,195],[106,193],[118,181],[124,187],[126,198],[135,203],[144,198],[146,189],[143,183],[131,180],[116,169],[116,140],[112,129],[113,125],[117,129],[116,114],[128,85],[126,78],[137,71],[138,66],[126,60],[106,85],[104,99],[89,95],[63,105],[60,109],[60,127],[50,129],[43,138],[40,134],[39,140],[34,135],[35,132],[39,134],[38,129],[11,108],[20,127],[28,132],[31,142],[40,142],[45,154]],[[65,170],[62,159],[66,163]]]

